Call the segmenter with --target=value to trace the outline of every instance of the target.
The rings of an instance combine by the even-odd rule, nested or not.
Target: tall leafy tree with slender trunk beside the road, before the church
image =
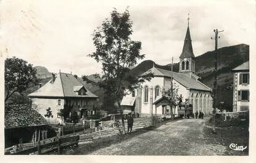
[[[89,57],[95,58],[96,62],[102,64],[103,74],[95,74],[100,81],[90,81],[86,76],[83,79],[92,82],[105,89],[111,95],[121,111],[122,129],[124,132],[124,118],[122,116],[121,100],[125,95],[125,90],[133,90],[139,86],[140,82],[150,80],[152,74],[137,78],[130,74],[130,67],[135,66],[138,60],[145,55],[140,54],[142,43],[132,41],[132,21],[129,11],[124,13],[114,9],[111,17],[106,18],[100,27],[93,33],[93,44],[96,51]]]

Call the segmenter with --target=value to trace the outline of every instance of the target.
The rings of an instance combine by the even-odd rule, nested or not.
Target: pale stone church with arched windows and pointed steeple
[[[171,88],[172,84],[177,87],[178,95],[182,95],[182,102],[192,107],[193,113],[202,111],[204,114],[211,113],[213,99],[211,98],[211,89],[207,85],[198,81],[199,77],[195,74],[195,55],[190,38],[189,25],[187,26],[186,37],[182,53],[179,57],[179,73],[163,70],[153,66],[145,73],[153,73],[154,78],[143,82],[140,86],[122,98],[121,105],[126,113],[139,113],[140,117],[156,114],[178,115],[180,106],[159,106],[156,103],[164,97],[164,94]],[[143,75],[143,74],[142,74]],[[172,110],[171,110],[172,109]]]

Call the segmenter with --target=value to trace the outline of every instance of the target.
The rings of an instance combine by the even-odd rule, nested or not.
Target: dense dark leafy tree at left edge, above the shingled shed
[[[36,84],[36,69],[20,58],[7,58],[4,62],[4,87],[7,101],[15,92],[22,93],[30,84]]]

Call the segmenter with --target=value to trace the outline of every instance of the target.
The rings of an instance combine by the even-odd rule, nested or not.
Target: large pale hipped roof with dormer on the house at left
[[[78,95],[77,91],[86,90],[86,95]],[[30,93],[28,97],[98,97],[85,87],[85,83],[80,82],[72,74],[58,73],[56,79],[51,79],[40,89]]]

